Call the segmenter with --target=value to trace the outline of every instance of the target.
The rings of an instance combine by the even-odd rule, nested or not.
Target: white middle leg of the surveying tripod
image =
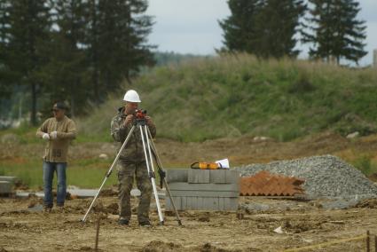
[[[148,158],[148,155],[147,155],[146,144],[149,143],[148,135],[147,135],[146,129],[145,129],[145,133],[143,132],[143,127],[146,127],[146,126],[145,125],[144,126],[139,125],[139,127],[140,127],[141,140],[143,142],[146,169],[148,169],[148,174],[149,174],[149,177],[151,178],[153,193],[154,193],[154,199],[156,200],[157,211],[158,211],[159,218],[160,218],[160,224],[163,224],[164,221],[163,221],[162,212],[161,212],[160,200],[159,200],[159,195],[157,193],[156,183],[155,183],[155,179],[154,179],[155,175],[154,175],[154,170],[153,170],[153,160],[152,160],[152,155],[150,153],[151,150],[149,148],[148,148],[148,150],[149,150],[149,157],[150,158]],[[145,141],[146,141],[146,143],[145,143]],[[149,147],[149,145],[148,145],[148,147]],[[149,167],[149,165],[151,165],[151,168]]]

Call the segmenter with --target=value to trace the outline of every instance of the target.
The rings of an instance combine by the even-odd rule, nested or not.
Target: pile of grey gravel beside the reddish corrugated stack
[[[292,161],[274,161],[235,168],[241,177],[253,176],[261,170],[305,179],[303,188],[311,198],[373,198],[377,186],[363,173],[342,159],[332,156],[312,156]]]

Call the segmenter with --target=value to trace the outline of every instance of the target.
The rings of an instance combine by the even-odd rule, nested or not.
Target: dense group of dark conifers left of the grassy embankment
[[[145,0],[1,0],[0,95],[15,88],[28,93],[33,124],[39,98],[67,100],[72,114],[88,100],[102,102],[154,63],[147,6]]]

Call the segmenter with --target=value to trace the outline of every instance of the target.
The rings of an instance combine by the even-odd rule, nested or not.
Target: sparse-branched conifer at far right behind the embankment
[[[341,59],[358,62],[365,56],[365,21],[357,20],[354,0],[310,0],[310,18],[302,41],[311,43],[310,57],[327,62]]]

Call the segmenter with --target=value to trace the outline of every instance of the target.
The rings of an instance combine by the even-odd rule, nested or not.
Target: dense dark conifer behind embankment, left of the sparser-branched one
[[[246,51],[259,57],[295,57],[295,35],[305,12],[302,0],[229,0],[232,15],[219,24],[223,51]]]

